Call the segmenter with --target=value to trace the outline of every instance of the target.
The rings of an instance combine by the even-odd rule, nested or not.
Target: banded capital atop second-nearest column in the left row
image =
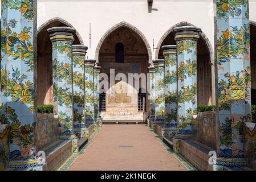
[[[75,28],[70,27],[52,27],[47,29],[52,42],[55,41],[74,41]]]

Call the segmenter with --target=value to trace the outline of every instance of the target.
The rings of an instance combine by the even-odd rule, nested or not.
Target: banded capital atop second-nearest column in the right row
[[[175,40],[198,40],[200,38],[201,28],[194,26],[182,26],[173,28]]]

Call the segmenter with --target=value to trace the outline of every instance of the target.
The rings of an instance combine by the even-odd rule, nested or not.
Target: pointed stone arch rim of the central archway
[[[101,37],[100,42],[97,44],[96,52],[95,52],[96,64],[99,63],[100,47],[103,44],[104,40],[107,38],[107,36],[109,34],[111,34],[113,31],[117,30],[120,27],[127,27],[127,28],[131,29],[132,31],[136,32],[136,34],[138,34],[140,36],[140,38],[143,40],[145,46],[147,47],[148,63],[150,65],[153,65],[151,47],[149,46],[148,40],[145,38],[145,35],[138,28],[136,28],[135,26],[133,26],[132,24],[129,24],[127,22],[117,23],[115,26],[109,28],[109,30],[107,32],[105,32],[105,34]]]

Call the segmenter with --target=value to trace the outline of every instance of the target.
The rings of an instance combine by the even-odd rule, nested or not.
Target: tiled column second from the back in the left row
[[[94,114],[94,64],[96,60],[86,60],[84,63],[85,69],[85,98],[86,98],[86,124],[95,123]]]

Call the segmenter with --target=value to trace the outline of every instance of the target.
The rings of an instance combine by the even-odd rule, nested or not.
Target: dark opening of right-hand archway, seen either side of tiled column
[[[179,23],[177,26],[191,25],[189,23]],[[157,58],[164,59],[162,50],[160,49],[165,45],[176,45],[174,40],[173,28],[167,31],[168,34],[162,38],[159,43]],[[212,86],[212,59],[209,45],[206,43],[204,36],[200,35],[197,41],[197,103],[198,105],[212,105],[213,104],[213,86]],[[214,79],[214,78],[213,78]]]

